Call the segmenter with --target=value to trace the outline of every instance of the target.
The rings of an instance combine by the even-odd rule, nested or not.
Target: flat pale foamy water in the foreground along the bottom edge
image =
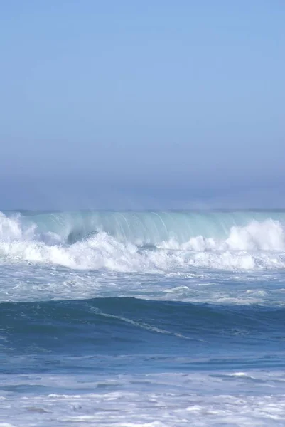
[[[1,408],[0,421],[9,419],[15,426],[271,427],[285,423],[284,372],[1,375],[0,380],[3,386],[23,390],[21,394],[10,391]],[[26,385],[30,393],[25,393]]]

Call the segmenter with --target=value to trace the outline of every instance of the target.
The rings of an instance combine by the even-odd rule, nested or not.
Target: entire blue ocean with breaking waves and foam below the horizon
[[[0,426],[284,426],[285,212],[0,213]]]

